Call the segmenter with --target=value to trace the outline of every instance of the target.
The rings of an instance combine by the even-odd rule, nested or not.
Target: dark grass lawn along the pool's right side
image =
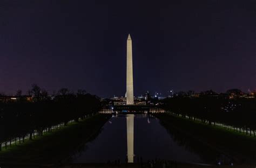
[[[189,146],[194,147],[194,151],[201,152],[205,158],[208,155],[213,161],[217,155],[223,155],[239,164],[256,163],[256,138],[167,113],[154,114],[154,116],[159,118],[171,134],[176,135],[178,141],[190,144]]]

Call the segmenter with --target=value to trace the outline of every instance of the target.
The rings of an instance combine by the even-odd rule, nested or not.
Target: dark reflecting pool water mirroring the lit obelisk
[[[174,139],[157,118],[140,114],[117,115],[105,123],[102,132],[93,141],[86,143],[84,149],[73,156],[73,162],[106,163],[116,159],[125,162],[126,157],[129,162],[137,162],[137,158],[142,157],[144,162],[158,158],[204,163],[197,153]]]

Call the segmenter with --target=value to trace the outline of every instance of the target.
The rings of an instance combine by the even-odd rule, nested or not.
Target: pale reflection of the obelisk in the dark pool
[[[128,163],[133,163],[133,126],[134,114],[126,115],[126,130],[127,130],[127,159]]]

